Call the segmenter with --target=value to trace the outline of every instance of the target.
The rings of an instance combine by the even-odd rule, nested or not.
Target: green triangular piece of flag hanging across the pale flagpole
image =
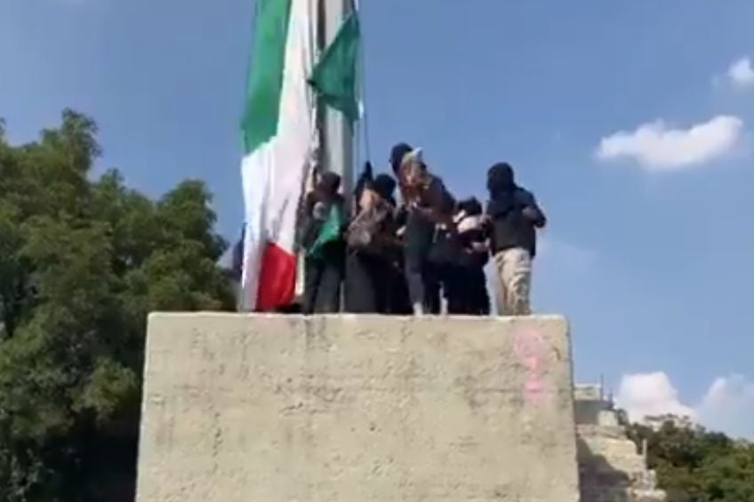
[[[358,119],[357,65],[361,28],[357,12],[343,21],[333,42],[322,53],[309,78],[320,99],[340,110],[351,122]]]

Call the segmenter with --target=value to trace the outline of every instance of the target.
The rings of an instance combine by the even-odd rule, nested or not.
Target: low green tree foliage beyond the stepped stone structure
[[[670,502],[754,500],[754,445],[702,427],[667,421],[659,430],[630,426],[631,439],[646,440],[648,462]]]

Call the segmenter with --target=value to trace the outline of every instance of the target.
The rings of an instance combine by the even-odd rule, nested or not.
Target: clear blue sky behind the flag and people
[[[571,320],[576,377],[604,374],[637,410],[681,406],[754,433],[754,3],[362,9],[373,160],[408,140],[459,196],[484,195],[487,167],[513,163],[549,214],[534,301]],[[233,237],[252,12],[0,0],[0,116],[20,142],[62,108],[92,115],[100,168],[150,195],[205,179]]]

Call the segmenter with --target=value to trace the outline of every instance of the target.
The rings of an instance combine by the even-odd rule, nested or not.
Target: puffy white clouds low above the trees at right
[[[625,375],[615,402],[633,421],[673,414],[734,437],[754,437],[754,382],[741,375],[716,378],[693,406],[681,401],[662,371]]]

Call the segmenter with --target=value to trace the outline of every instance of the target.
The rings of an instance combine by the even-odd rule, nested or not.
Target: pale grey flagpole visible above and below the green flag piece
[[[353,9],[353,0],[320,0],[322,8],[322,47],[329,45]],[[322,161],[326,171],[341,175],[343,195],[349,207],[354,183],[353,130],[343,114],[331,107],[321,110]]]

